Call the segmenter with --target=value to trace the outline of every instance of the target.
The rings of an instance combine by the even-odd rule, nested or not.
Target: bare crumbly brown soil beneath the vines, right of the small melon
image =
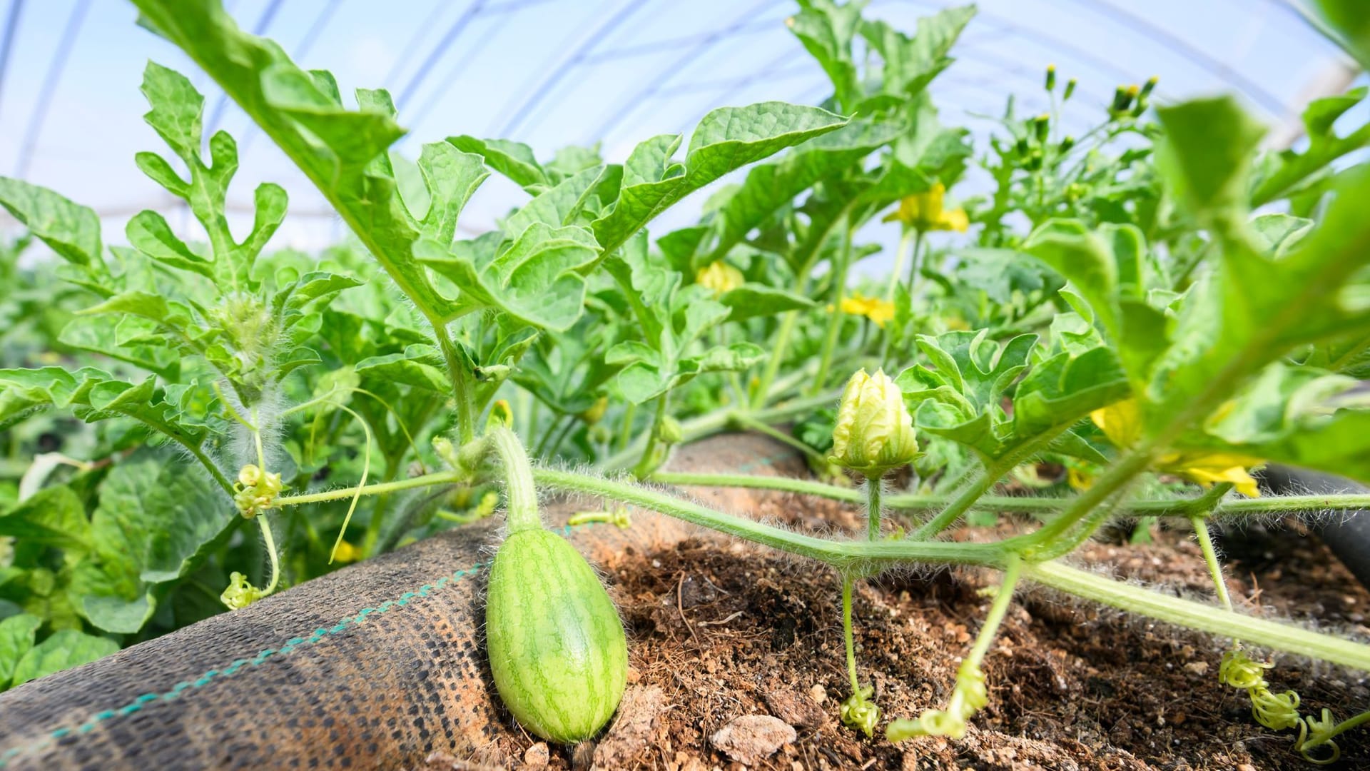
[[[797,530],[859,524],[849,509],[825,501],[763,501],[755,514]],[[1234,602],[1249,612],[1370,635],[1370,594],[1297,523],[1254,527],[1222,546]],[[1162,530],[1144,546],[1095,543],[1077,558],[1211,595],[1188,532]],[[849,686],[833,573],[749,545],[699,539],[633,554],[608,579],[630,635],[629,694],[597,752],[552,748],[552,768],[589,766],[592,757],[612,768],[743,768],[711,737],[748,715],[775,716],[797,731],[754,768],[1314,768],[1293,752],[1292,731],[1262,728],[1245,694],[1218,682],[1222,641],[1040,590],[1018,598],[986,659],[991,704],[970,733],[891,745],[881,735],[889,717],[944,705],[988,609],[977,589],[996,579],[982,571],[910,571],[858,590],[860,675],[875,685],[884,709],[874,739],[836,719]],[[1292,656],[1269,678],[1274,690],[1296,689],[1304,713],[1329,707],[1347,717],[1370,704],[1359,674]],[[1351,731],[1338,744],[1336,767],[1370,768],[1370,734]],[[533,766],[547,752],[532,739],[508,749]]]

